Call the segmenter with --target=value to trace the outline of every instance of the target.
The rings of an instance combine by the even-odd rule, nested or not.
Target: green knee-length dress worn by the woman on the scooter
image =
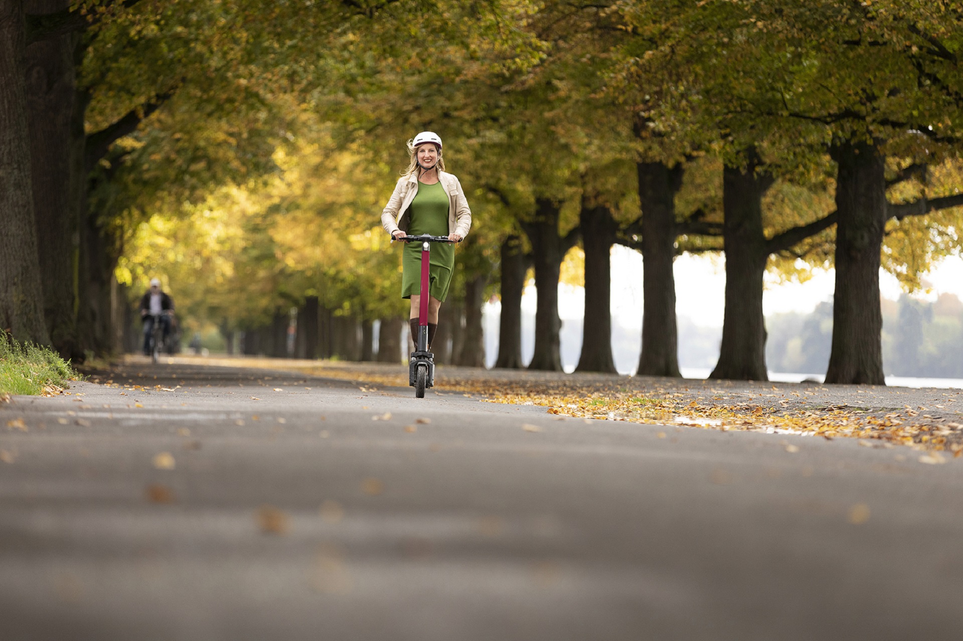
[[[408,236],[448,236],[448,193],[441,182],[434,185],[418,183],[418,194],[411,201]],[[404,244],[402,254],[402,297],[421,295],[421,243]],[[455,245],[431,244],[429,262],[429,294],[444,302],[455,269]]]

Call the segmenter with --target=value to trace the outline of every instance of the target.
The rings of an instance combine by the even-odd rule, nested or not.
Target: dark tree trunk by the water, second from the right
[[[763,196],[772,178],[757,171],[759,158],[722,170],[725,244],[725,316],[719,360],[710,378],[768,380],[763,275],[768,249],[763,231]]]

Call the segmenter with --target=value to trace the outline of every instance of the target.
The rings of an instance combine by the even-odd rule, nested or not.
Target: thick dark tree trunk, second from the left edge
[[[69,5],[67,0],[26,3],[29,13],[55,13]],[[79,203],[72,188],[81,178],[71,164],[76,39],[75,35],[67,34],[34,42],[26,49],[25,63],[44,316],[54,348],[63,357],[82,362],[84,352],[76,326],[80,296],[73,278],[74,261],[80,250],[77,242],[80,229]],[[117,341],[111,340],[109,344],[113,350]]]

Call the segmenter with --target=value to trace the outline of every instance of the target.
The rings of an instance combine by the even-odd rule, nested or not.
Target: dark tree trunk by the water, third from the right
[[[638,163],[642,209],[642,351],[637,374],[679,377],[675,319],[675,194],[683,167]]]

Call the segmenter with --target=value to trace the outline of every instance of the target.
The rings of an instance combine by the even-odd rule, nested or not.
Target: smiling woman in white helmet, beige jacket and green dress
[[[454,242],[468,235],[472,212],[455,174],[445,171],[441,138],[423,131],[407,142],[409,163],[381,213],[381,226],[394,239],[411,234],[447,236]],[[406,244],[402,254],[402,297],[411,299],[411,336],[418,335],[421,303],[421,246]],[[431,248],[429,264],[428,343],[438,331],[438,309],[448,295],[455,269],[455,245]]]

